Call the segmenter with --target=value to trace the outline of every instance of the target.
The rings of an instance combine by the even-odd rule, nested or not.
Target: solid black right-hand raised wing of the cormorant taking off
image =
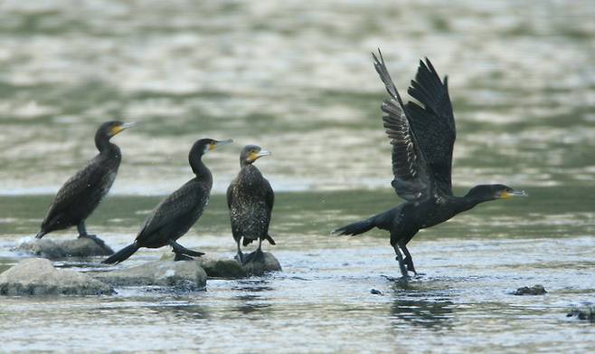
[[[440,81],[430,60],[420,61],[420,67],[407,91],[423,107],[409,101],[405,114],[411,124],[418,146],[430,167],[432,179],[443,194],[452,196],[452,149],[457,137],[448,77]]]

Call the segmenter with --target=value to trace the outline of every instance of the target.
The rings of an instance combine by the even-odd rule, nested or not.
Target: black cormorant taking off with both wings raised
[[[381,109],[392,144],[392,187],[406,202],[336,229],[335,233],[362,234],[373,227],[389,231],[401,273],[406,277],[407,271],[416,273],[407,243],[420,229],[443,223],[479,203],[526,194],[504,185],[481,185],[471,188],[466,196],[453,196],[450,170],[456,129],[448,78],[440,81],[431,62],[427,58],[426,62],[420,61],[408,93],[422,106],[411,101],[403,104],[380,50],[378,53],[380,60],[372,54],[374,67],[390,95]]]

